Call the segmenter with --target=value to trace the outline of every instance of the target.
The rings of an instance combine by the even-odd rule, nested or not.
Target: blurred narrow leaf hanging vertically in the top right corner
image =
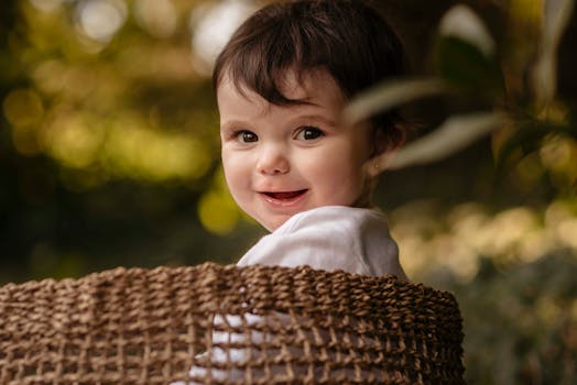
[[[532,74],[537,106],[545,106],[555,97],[557,48],[574,7],[574,0],[545,0],[541,52]]]

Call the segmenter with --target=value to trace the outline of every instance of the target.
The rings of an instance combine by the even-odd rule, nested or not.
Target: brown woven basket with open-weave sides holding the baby
[[[464,384],[461,341],[450,294],[394,277],[203,264],[0,287],[0,384],[168,385],[192,366],[205,384]]]

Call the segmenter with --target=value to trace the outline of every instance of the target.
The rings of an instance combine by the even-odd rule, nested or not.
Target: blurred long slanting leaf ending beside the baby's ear
[[[398,169],[447,157],[497,129],[502,121],[503,116],[497,112],[450,117],[431,134],[395,154],[383,155],[379,160],[379,169]]]

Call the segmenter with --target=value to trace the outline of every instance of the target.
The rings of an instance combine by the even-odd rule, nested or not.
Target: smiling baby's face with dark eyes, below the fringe
[[[366,201],[372,152],[366,125],[346,125],[346,99],[326,72],[288,72],[281,91],[298,105],[246,96],[225,77],[218,87],[222,164],[237,204],[270,231],[293,215]]]

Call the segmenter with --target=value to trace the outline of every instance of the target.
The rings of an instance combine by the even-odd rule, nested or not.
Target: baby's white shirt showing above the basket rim
[[[238,262],[381,276],[406,276],[385,216],[375,209],[326,206],[291,217]]]

